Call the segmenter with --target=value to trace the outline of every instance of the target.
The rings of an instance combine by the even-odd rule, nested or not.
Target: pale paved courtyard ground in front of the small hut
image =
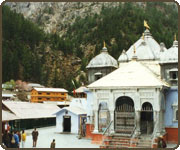
[[[37,128],[39,132],[37,148],[49,148],[53,139],[56,140],[56,148],[99,148],[99,145],[91,144],[91,140],[78,139],[75,134],[56,133],[55,126]],[[32,148],[32,130],[26,130],[27,139],[25,148]]]

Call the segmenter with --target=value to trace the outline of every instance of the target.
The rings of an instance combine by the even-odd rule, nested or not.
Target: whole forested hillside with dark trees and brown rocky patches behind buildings
[[[44,32],[40,23],[24,19],[8,6],[2,10],[3,82],[21,79],[70,91],[72,79],[77,79],[77,86],[87,83],[81,71],[86,71],[89,60],[100,52],[103,41],[117,59],[139,39],[144,20],[155,40],[167,48],[178,32],[177,8],[162,2],[148,2],[143,7],[130,2],[102,6],[99,14],[77,17],[62,37],[58,32]]]

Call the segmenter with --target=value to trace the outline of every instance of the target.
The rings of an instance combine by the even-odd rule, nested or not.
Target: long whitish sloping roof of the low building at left
[[[20,119],[52,118],[60,108],[55,104],[29,103],[29,102],[2,102],[11,112]]]

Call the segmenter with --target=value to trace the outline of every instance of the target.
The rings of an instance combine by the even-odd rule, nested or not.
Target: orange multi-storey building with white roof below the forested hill
[[[31,91],[31,102],[66,101],[68,91],[61,88],[34,88]]]

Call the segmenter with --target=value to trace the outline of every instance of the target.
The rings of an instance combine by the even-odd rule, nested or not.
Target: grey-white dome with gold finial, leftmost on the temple
[[[118,68],[116,59],[109,55],[107,48],[103,47],[101,53],[95,56],[86,68],[115,67]]]

